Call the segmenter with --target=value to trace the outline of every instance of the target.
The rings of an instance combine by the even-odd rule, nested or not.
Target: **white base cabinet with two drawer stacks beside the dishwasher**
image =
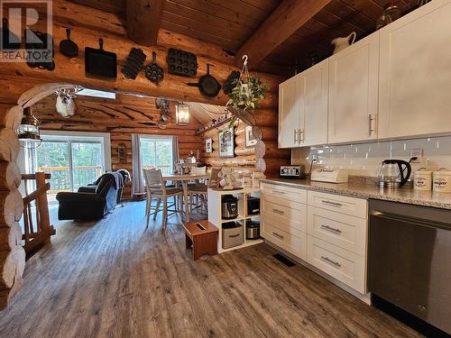
[[[262,237],[366,293],[368,202],[262,184]]]

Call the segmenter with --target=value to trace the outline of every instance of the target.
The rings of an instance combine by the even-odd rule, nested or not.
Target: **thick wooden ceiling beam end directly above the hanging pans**
[[[127,36],[143,46],[157,44],[164,0],[127,0]]]

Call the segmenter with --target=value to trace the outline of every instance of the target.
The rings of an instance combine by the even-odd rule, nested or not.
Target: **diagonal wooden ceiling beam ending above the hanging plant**
[[[283,0],[264,23],[253,32],[235,56],[235,65],[243,64],[242,57],[249,57],[248,66],[255,69],[272,50],[275,50],[290,35],[298,31],[317,14],[330,0]]]

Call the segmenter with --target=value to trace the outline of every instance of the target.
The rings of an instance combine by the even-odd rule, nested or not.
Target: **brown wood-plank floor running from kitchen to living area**
[[[419,337],[266,244],[193,261],[178,216],[145,230],[144,208],[60,224],[0,337]]]

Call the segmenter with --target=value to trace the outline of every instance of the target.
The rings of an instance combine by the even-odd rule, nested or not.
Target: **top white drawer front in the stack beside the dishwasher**
[[[308,191],[308,206],[318,206],[345,215],[368,218],[368,203],[361,198]]]

